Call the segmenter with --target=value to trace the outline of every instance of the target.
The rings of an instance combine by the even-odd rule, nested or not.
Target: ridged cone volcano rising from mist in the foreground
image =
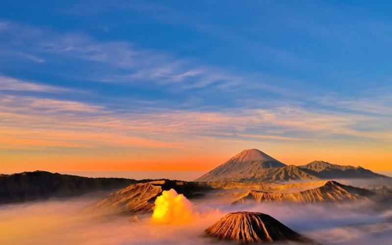
[[[239,243],[313,243],[269,215],[254,212],[227,214],[204,232],[210,237]]]

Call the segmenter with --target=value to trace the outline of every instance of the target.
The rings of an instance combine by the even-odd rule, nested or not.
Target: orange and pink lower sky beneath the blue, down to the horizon
[[[286,164],[392,171],[389,129],[352,126],[378,121],[300,107],[135,115],[8,96],[0,98],[0,118],[0,172],[207,171],[247,148]]]

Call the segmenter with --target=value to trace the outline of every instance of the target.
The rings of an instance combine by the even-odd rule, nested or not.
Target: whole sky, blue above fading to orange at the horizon
[[[0,3],[0,172],[392,171],[392,3]]]

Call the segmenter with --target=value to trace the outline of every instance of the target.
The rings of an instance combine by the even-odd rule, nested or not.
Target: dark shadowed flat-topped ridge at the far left
[[[136,182],[134,179],[88,178],[45,171],[0,174],[0,204],[77,196],[120,189]]]

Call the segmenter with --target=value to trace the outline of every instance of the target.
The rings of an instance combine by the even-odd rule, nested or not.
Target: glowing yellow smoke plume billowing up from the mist
[[[173,189],[163,191],[155,200],[152,222],[186,223],[192,220],[192,203]]]

